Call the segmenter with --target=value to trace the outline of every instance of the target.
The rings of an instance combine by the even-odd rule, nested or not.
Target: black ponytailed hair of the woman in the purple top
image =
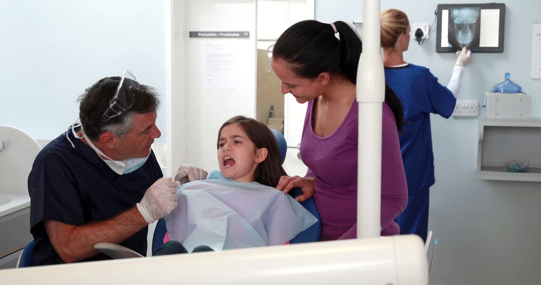
[[[313,79],[322,72],[329,72],[357,84],[361,38],[347,23],[337,21],[333,24],[340,39],[335,37],[330,24],[306,20],[292,25],[276,40],[273,59],[285,61],[302,78]],[[401,130],[402,104],[387,84],[385,103],[391,107],[398,130]]]

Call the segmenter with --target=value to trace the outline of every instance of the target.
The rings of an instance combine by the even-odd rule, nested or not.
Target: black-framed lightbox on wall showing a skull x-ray
[[[437,52],[504,51],[505,4],[439,4]]]

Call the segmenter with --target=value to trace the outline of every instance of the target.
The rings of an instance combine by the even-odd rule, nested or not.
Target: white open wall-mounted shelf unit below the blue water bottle
[[[506,172],[504,162],[529,161],[525,172]],[[541,119],[479,120],[479,179],[541,181]]]

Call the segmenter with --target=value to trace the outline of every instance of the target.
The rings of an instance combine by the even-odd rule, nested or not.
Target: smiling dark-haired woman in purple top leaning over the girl
[[[357,235],[355,82],[361,50],[361,40],[348,24],[312,20],[291,26],[273,49],[271,64],[282,81],[282,93],[308,102],[301,140],[308,173],[282,177],[276,188],[288,192],[301,187],[299,201],[313,195],[321,215],[321,240]],[[406,207],[407,186],[397,132],[402,107],[387,87],[382,108],[381,235],[393,235],[400,232],[394,219]]]

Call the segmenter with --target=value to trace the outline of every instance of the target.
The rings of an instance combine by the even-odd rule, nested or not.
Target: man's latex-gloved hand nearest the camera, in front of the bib
[[[137,209],[148,223],[169,215],[176,207],[176,187],[180,184],[170,177],[160,178],[144,192]]]

